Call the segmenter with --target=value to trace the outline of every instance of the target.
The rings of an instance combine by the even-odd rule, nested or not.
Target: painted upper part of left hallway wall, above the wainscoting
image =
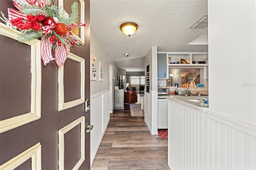
[[[91,53],[97,57],[97,67],[98,67],[98,61],[101,61],[104,64],[103,67],[103,81],[99,81],[99,71],[97,73],[97,80],[91,80],[90,81],[90,93],[91,95],[100,93],[106,89],[109,89],[109,65],[113,66],[113,75],[112,77],[117,76],[117,65],[116,62],[112,62],[108,54],[106,53],[105,49],[102,47],[102,44],[98,40],[98,37],[96,36],[94,30],[91,28],[91,39],[90,39],[90,50]],[[115,79],[116,80],[116,79]],[[113,80],[113,83],[116,83],[115,80]],[[115,85],[115,84],[114,84]]]

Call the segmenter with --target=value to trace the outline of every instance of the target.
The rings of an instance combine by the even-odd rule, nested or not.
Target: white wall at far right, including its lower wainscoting
[[[208,54],[206,167],[255,170],[255,0],[208,1]]]

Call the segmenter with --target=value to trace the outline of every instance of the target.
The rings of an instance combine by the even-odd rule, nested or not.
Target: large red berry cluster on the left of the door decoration
[[[24,20],[24,18],[15,18],[15,19],[12,19],[10,20],[10,23],[13,25],[13,26],[16,26],[18,29],[20,30],[28,30],[28,29],[32,29],[32,30],[37,30],[37,31],[40,31],[40,29],[42,28],[42,26],[40,26],[40,22],[42,22],[44,20],[44,16],[31,16],[31,15],[28,15],[27,16],[27,20]]]

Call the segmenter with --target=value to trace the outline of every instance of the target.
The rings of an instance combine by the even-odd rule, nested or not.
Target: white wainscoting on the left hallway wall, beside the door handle
[[[90,132],[91,165],[100,146],[100,142],[110,120],[109,89],[91,96],[90,99]]]

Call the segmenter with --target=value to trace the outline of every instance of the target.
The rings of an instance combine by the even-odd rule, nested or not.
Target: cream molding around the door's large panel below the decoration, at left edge
[[[17,40],[21,32],[8,28],[0,23],[0,35]],[[41,117],[41,42],[31,40],[25,42],[30,45],[31,57],[31,103],[30,112],[0,121],[0,133],[19,127]]]

